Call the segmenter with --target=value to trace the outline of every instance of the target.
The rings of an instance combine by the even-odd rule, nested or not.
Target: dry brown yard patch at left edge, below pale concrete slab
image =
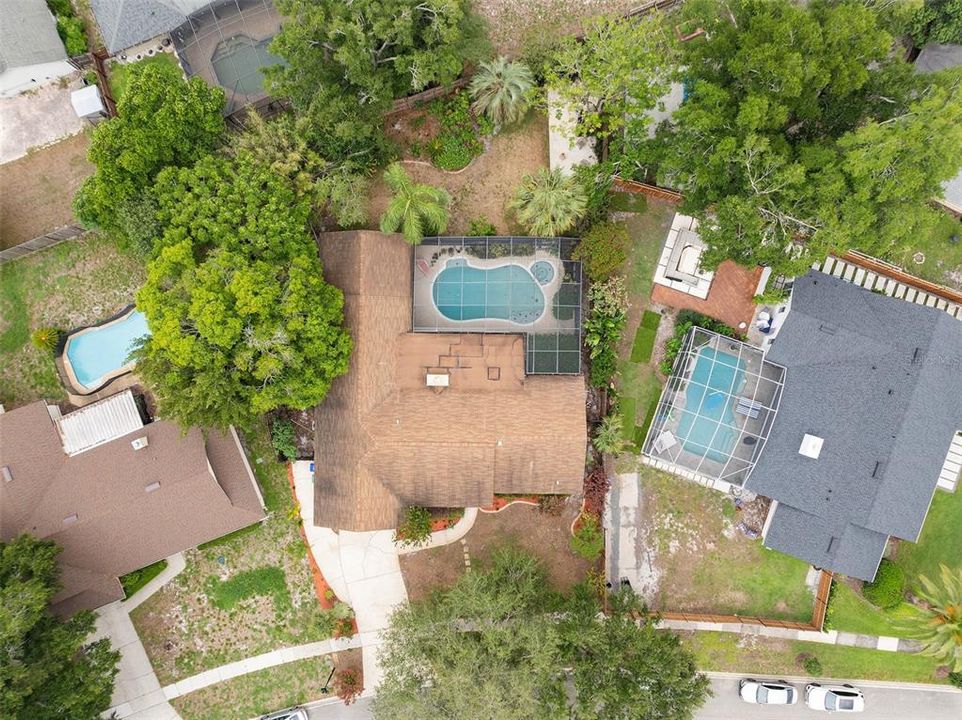
[[[94,171],[88,147],[81,133],[0,165],[0,249],[74,222],[73,195]]]

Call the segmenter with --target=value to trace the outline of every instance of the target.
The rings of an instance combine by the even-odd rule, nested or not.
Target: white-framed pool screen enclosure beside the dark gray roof
[[[656,467],[743,485],[768,440],[785,369],[735,338],[684,337],[643,446]]]

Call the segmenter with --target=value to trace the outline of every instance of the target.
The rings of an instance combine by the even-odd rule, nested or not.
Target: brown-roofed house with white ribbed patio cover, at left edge
[[[66,415],[0,414],[0,539],[53,540],[70,614],[123,598],[118,576],[264,517],[237,434],[145,424],[130,390]]]

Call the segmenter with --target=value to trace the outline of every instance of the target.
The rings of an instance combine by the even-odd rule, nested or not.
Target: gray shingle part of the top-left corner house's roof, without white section
[[[44,0],[0,2],[0,72],[66,59]]]

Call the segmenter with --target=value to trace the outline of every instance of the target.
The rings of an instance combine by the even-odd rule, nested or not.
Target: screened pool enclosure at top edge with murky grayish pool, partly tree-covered
[[[224,88],[230,115],[267,98],[260,68],[279,62],[265,47],[281,19],[271,0],[215,0],[170,36],[188,76]]]

